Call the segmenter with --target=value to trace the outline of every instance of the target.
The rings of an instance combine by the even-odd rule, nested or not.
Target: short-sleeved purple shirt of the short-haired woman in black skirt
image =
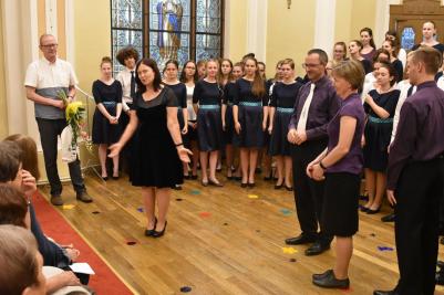
[[[329,135],[328,154],[338,145],[342,116],[350,116],[357,119],[353,140],[351,141],[349,152],[334,165],[328,167],[327,172],[349,172],[359,175],[362,171],[364,162],[361,148],[361,137],[365,126],[365,112],[358,93],[351,94],[342,102],[342,106],[338,114],[327,127],[327,133]]]

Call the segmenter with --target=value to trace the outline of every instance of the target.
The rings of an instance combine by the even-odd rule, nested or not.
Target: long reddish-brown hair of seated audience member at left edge
[[[21,148],[22,168],[28,170],[35,180],[40,178],[39,160],[37,155],[37,145],[34,139],[28,135],[14,134],[10,135],[4,140],[14,141]]]

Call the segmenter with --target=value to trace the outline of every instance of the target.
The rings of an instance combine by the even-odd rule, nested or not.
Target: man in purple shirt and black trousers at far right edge
[[[433,294],[438,244],[438,209],[444,182],[444,92],[434,82],[438,51],[420,48],[407,61],[417,86],[401,109],[390,148],[388,198],[395,207],[400,281],[393,291],[373,294]]]

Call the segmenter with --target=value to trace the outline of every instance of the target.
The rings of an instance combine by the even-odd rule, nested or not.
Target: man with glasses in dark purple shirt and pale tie
[[[310,50],[303,64],[310,82],[304,84],[295,103],[288,141],[292,144],[295,202],[302,233],[286,240],[287,244],[313,243],[306,255],[317,255],[330,249],[332,236],[318,232],[322,209],[323,181],[306,175],[306,168],[328,144],[327,125],[338,113],[340,101],[329,77],[326,76],[327,53]]]

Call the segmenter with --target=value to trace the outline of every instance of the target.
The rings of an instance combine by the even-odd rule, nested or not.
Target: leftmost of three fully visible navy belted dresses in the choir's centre
[[[220,104],[224,91],[217,82],[200,80],[193,93],[193,104],[199,104],[197,135],[199,150],[214,151],[224,147]]]

